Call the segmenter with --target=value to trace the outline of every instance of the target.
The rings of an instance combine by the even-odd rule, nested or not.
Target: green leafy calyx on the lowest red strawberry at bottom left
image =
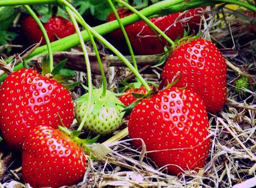
[[[97,142],[99,136],[94,137],[93,139],[80,139],[79,134],[81,131],[74,130],[71,131],[67,127],[58,126],[59,130],[66,136],[68,136],[74,143],[79,145],[92,159],[98,160],[90,150],[88,145],[92,145]]]

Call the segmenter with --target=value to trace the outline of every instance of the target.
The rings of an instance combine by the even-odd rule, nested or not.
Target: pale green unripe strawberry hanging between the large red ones
[[[113,133],[121,124],[124,110],[122,102],[116,98],[115,93],[107,90],[106,96],[102,97],[102,88],[93,90],[90,111],[86,113],[88,93],[76,101],[75,113],[79,123],[84,122],[84,129],[97,135]]]

